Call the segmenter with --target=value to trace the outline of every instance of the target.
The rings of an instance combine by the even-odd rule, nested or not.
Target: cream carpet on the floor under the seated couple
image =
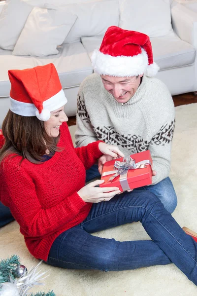
[[[75,126],[70,127],[74,134]],[[197,231],[197,104],[176,107],[176,127],[170,178],[178,196],[173,217],[181,226]],[[144,240],[141,224],[132,223],[96,233],[116,240]],[[30,269],[38,260],[28,252],[17,222],[0,229],[0,257],[17,254]],[[173,265],[119,272],[65,270],[41,264],[50,275],[36,291],[54,290],[56,296],[195,296],[197,287]]]

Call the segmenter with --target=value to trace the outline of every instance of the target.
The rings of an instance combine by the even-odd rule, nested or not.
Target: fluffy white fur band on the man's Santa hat
[[[100,75],[118,77],[141,75],[145,73],[148,67],[148,55],[143,48],[141,50],[141,53],[133,57],[114,57],[95,50],[91,58],[92,66],[94,71]]]

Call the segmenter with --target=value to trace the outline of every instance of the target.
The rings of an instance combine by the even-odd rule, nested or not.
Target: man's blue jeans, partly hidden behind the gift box
[[[98,171],[98,165],[94,164],[89,170],[86,171],[86,182],[92,179],[100,177]],[[160,181],[156,185],[144,186],[139,189],[148,190],[153,192],[164,204],[165,209],[169,213],[173,213],[177,206],[177,196],[169,177]]]

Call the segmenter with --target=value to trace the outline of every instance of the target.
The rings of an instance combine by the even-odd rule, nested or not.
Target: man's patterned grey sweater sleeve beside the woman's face
[[[77,129],[75,132],[75,144],[78,147],[86,146],[98,140],[90,121],[84,100],[83,84],[81,85],[77,97]]]

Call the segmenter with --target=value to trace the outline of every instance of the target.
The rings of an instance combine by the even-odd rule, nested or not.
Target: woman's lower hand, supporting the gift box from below
[[[101,201],[108,201],[120,192],[118,187],[95,187],[103,182],[104,180],[91,182],[82,187],[77,193],[85,202],[98,203]]]

